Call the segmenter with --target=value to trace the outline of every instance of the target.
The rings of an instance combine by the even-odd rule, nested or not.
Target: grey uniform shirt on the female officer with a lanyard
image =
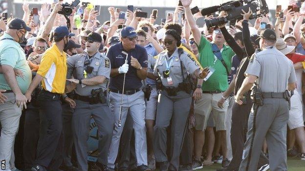
[[[200,69],[200,66],[196,60],[193,59],[187,52],[184,51],[183,54],[181,54],[180,59],[182,61],[184,78],[186,78],[187,72],[193,74],[197,69]],[[162,84],[165,87],[178,87],[179,83],[183,81],[183,77],[181,75],[180,59],[178,48],[176,48],[174,54],[171,57],[168,57],[167,51],[158,55],[158,58],[155,61],[153,75],[160,76]],[[173,84],[171,85],[168,84],[168,80],[164,77],[163,74],[163,72],[167,70],[167,65],[170,67],[169,76],[173,80]]]

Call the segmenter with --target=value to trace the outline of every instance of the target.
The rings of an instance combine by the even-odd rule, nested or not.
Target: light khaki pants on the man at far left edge
[[[5,160],[5,171],[10,171],[10,160],[14,160],[13,146],[15,136],[19,128],[19,120],[21,116],[21,108],[19,108],[15,101],[14,93],[5,93],[7,100],[0,104],[0,122],[1,122],[1,136],[0,136],[0,161]],[[13,165],[13,163],[11,163]]]

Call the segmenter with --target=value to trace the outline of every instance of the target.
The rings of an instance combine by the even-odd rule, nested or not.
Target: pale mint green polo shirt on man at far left
[[[32,81],[32,73],[27,64],[25,53],[18,42],[11,39],[1,40],[3,38],[12,37],[7,33],[0,37],[0,65],[9,65],[22,71],[23,78],[16,76],[16,79],[22,94],[25,94]],[[11,90],[3,74],[0,74],[0,89]]]

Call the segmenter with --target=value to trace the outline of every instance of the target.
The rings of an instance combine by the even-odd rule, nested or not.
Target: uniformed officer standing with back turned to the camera
[[[266,138],[270,170],[287,171],[286,125],[291,96],[287,89],[293,91],[296,88],[296,75],[292,62],[274,46],[275,32],[265,29],[260,38],[262,51],[250,58],[245,71],[246,78],[235,95],[236,103],[242,105],[244,93],[255,83],[251,95],[254,105],[249,115],[245,158],[239,170],[257,170],[261,147]],[[275,72],[278,75],[275,76]]]

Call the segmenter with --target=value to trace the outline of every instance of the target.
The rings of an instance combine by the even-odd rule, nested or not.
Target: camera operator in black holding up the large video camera
[[[236,75],[232,74],[233,80],[231,81],[229,88],[223,93],[224,97],[228,97],[232,93],[234,95],[237,94],[237,91],[241,87],[242,81],[244,80],[245,76],[243,75],[244,71],[246,70],[250,56],[255,52],[255,49],[259,47],[259,43],[256,40],[258,36],[251,36],[249,32],[249,18],[252,14],[252,11],[243,12],[243,19],[242,22],[242,32],[238,32],[235,34],[235,40],[232,36],[228,33],[224,26],[219,26],[221,32],[223,33],[226,42],[229,44],[230,47],[236,52],[236,55],[233,57],[232,61],[237,64],[235,67],[237,70],[235,71]],[[237,38],[236,36],[242,34],[242,38]],[[236,41],[236,42],[235,42]],[[238,45],[240,44],[240,45]],[[232,65],[233,65],[232,62]],[[238,67],[237,67],[238,66]],[[232,69],[232,73],[233,73]],[[237,171],[240,167],[240,162],[242,158],[243,152],[243,144],[244,144],[244,130],[247,129],[245,127],[248,117],[250,114],[250,110],[252,107],[252,101],[250,100],[250,94],[245,94],[246,103],[243,105],[239,105],[236,102],[233,103],[232,107],[232,126],[231,126],[231,145],[232,145],[232,152],[233,158],[227,167],[227,169],[219,169],[218,171]],[[218,101],[218,106],[221,108],[223,103],[225,102],[224,98],[221,98]],[[263,168],[262,168],[263,167]],[[263,155],[261,152],[261,158],[258,165],[259,171],[262,171],[268,166],[268,159]]]

